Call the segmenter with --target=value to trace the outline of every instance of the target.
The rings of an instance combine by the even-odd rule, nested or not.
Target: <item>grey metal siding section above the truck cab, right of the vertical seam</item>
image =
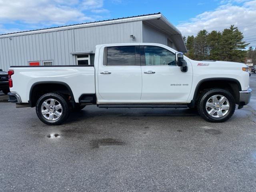
[[[75,51],[95,52],[98,44],[142,42],[141,25],[142,22],[137,21],[74,29]]]

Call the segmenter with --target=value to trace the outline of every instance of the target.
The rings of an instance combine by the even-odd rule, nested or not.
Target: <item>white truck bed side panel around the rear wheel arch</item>
[[[10,66],[14,70],[11,92],[18,92],[22,103],[29,100],[33,84],[62,82],[67,84],[78,102],[83,93],[95,94],[94,66]]]

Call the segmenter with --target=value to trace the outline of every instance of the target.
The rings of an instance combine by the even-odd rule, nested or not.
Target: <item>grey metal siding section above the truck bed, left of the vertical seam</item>
[[[73,65],[73,29],[0,38],[0,68],[28,65],[29,61],[53,60],[54,65]],[[42,63],[41,63],[42,64]]]

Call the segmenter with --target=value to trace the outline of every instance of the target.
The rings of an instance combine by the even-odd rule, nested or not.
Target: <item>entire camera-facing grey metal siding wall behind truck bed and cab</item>
[[[135,38],[130,38],[134,35]],[[93,51],[97,44],[142,42],[142,21],[34,33],[0,38],[0,68],[53,60],[54,65],[75,65],[71,52]],[[42,64],[42,63],[41,63]]]

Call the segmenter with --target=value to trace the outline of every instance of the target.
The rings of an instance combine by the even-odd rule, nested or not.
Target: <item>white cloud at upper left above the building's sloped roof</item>
[[[102,6],[103,0],[0,0],[0,23],[51,25],[92,21],[94,18],[84,10],[102,10]]]

